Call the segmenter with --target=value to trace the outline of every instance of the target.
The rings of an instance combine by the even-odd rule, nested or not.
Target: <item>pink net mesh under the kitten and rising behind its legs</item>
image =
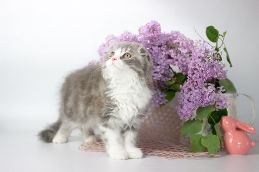
[[[167,159],[212,156],[208,152],[189,153],[190,145],[180,143],[182,121],[170,105],[163,108],[152,107],[145,116],[139,132],[137,145],[145,155]],[[79,145],[83,151],[105,152],[103,142],[88,142]],[[218,155],[216,155],[218,156]]]

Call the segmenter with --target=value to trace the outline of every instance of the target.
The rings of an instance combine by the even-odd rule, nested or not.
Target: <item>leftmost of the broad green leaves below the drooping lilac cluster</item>
[[[181,136],[192,136],[201,131],[202,122],[199,120],[187,120],[182,126]]]

